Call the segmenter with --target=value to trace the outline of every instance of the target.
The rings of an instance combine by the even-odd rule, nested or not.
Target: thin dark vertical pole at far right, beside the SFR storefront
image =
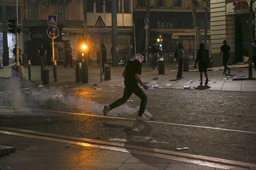
[[[248,67],[248,78],[253,79],[253,69],[252,69],[252,44],[253,44],[253,1],[250,0],[250,14],[249,14],[249,67]]]

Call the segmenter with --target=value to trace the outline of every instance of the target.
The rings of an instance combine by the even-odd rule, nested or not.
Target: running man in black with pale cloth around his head
[[[143,62],[145,57],[144,53],[136,54],[131,60],[127,63],[124,72],[122,73],[125,78],[125,90],[122,98],[118,99],[114,103],[110,105],[105,105],[103,114],[106,116],[109,111],[113,108],[116,108],[122,104],[124,104],[129,97],[134,93],[141,99],[140,109],[137,116],[137,120],[149,120],[143,114],[147,104],[147,96],[144,91],[139,87],[138,83],[140,83],[144,89],[148,89],[148,86],[144,84],[140,78],[141,74],[141,63]]]

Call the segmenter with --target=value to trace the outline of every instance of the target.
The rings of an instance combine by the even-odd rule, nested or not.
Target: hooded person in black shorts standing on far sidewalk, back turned
[[[201,80],[200,85],[203,84],[203,73],[206,79],[204,85],[207,85],[209,81],[208,74],[207,74],[207,68],[209,65],[209,52],[207,49],[204,48],[203,43],[201,43],[199,47],[200,49],[197,51],[197,59],[194,67],[197,68],[197,63],[198,63],[198,69],[200,72],[200,80]]]

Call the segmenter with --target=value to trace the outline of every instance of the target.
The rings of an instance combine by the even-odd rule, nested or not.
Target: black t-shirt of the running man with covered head
[[[125,67],[125,86],[138,86],[138,82],[134,78],[136,73],[141,74],[141,63],[138,60],[128,61]]]

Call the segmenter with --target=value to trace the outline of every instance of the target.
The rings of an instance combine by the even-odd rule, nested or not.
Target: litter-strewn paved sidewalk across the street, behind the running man
[[[194,63],[190,62],[190,69],[195,70]],[[101,85],[115,85],[123,86],[124,79],[122,72],[124,66],[111,67],[111,79],[104,80],[104,73],[102,82],[100,82],[100,69],[99,65],[91,64],[88,67],[88,84],[101,84]],[[220,67],[222,68],[222,67]],[[247,91],[256,92],[256,81],[255,80],[239,80],[233,81],[233,77],[243,76],[248,78],[248,68],[234,68],[231,69],[231,73],[224,75],[222,74],[223,69],[210,68],[214,71],[208,71],[209,83],[208,86],[199,86],[199,72],[198,71],[187,71],[183,72],[184,79],[176,79],[177,66],[175,64],[165,63],[165,74],[158,74],[158,70],[152,70],[150,63],[143,63],[142,67],[142,81],[146,84],[152,83],[152,85],[158,84],[160,88],[179,88],[184,89],[184,86],[190,86],[187,88],[198,89],[198,90],[224,90],[224,91]],[[50,83],[53,82],[53,67],[47,66],[45,69],[49,70]],[[209,69],[208,69],[209,70]],[[28,80],[28,69],[24,68],[25,80]],[[10,77],[11,68],[5,67],[0,69],[0,77]],[[41,69],[40,66],[31,67],[31,81],[41,81]],[[253,77],[256,77],[256,70],[253,69]],[[203,79],[204,75],[203,75]],[[224,80],[226,79],[226,80]],[[75,68],[65,68],[61,65],[57,66],[57,82],[58,83],[75,83]]]

